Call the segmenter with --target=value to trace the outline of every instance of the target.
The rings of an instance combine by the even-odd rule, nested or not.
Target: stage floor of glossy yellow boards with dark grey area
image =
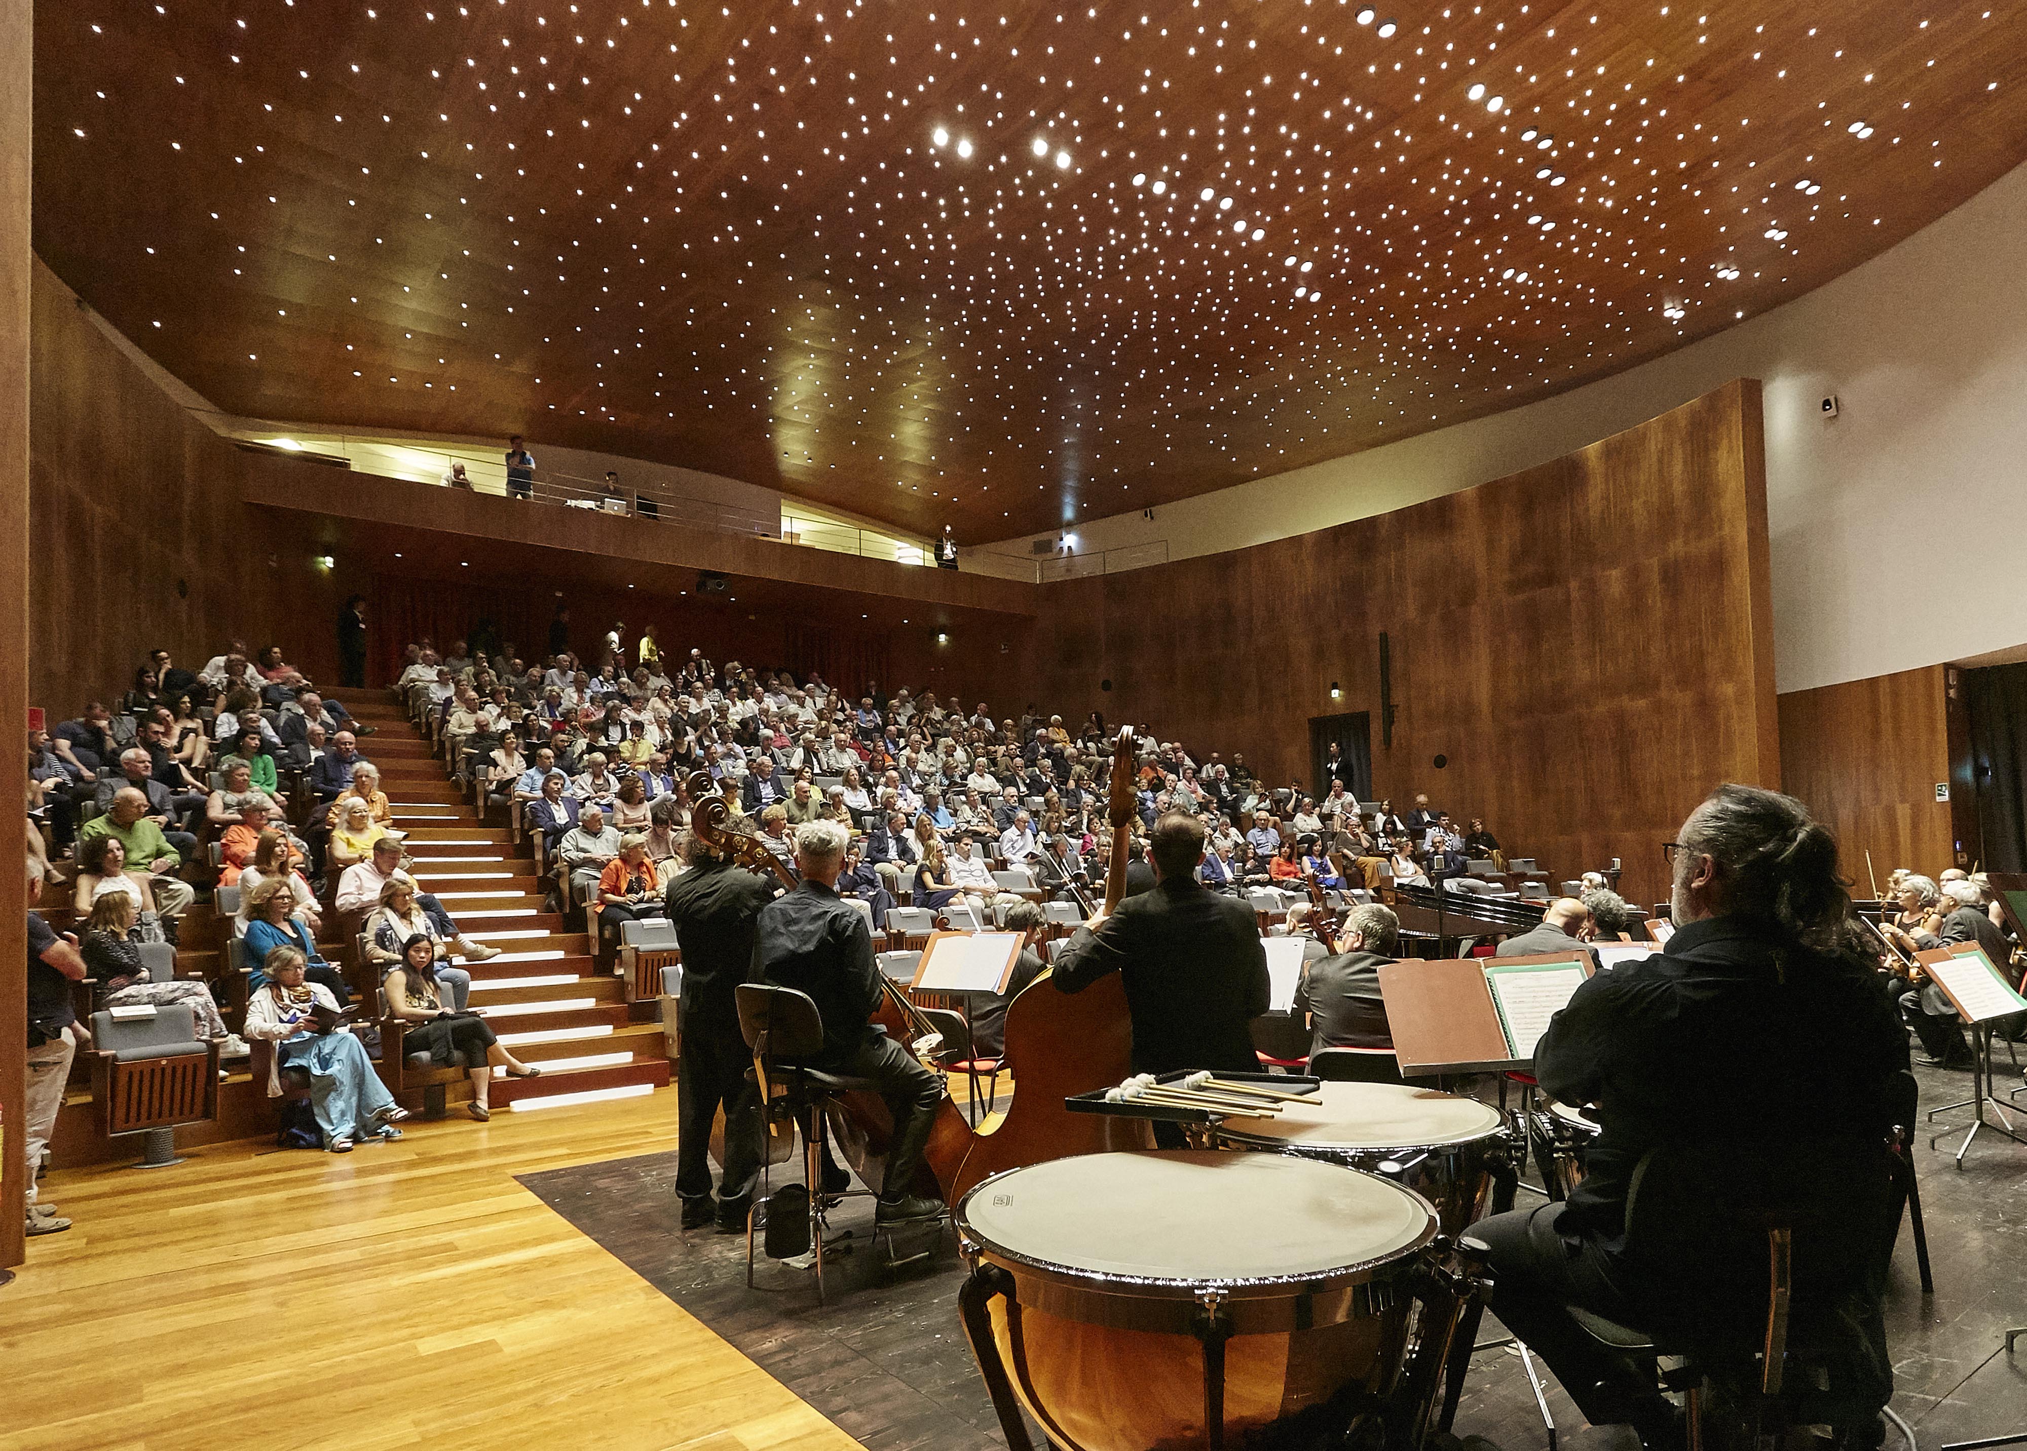
[[[1918,1074],[1924,1102],[1966,1084]],[[748,1293],[742,1238],[677,1228],[673,1092],[407,1129],[349,1157],[51,1173],[77,1228],[0,1289],[0,1449],[1003,1445],[949,1234],[894,1275],[861,1244],[819,1309],[780,1265]],[[1958,1171],[1958,1137],[1916,1159],[1936,1295],[1903,1234],[1887,1307],[1922,1451],[2027,1429],[2027,1342],[1999,1344],[2027,1323],[2027,1147],[1980,1135]],[[1478,1356],[1457,1431],[1545,1445],[1510,1352]]]

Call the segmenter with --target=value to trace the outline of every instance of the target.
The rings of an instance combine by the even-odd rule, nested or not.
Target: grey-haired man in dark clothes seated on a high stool
[[[874,1218],[918,1220],[943,1214],[941,1200],[910,1192],[922,1149],[943,1102],[943,1082],[902,1044],[870,1019],[880,1007],[880,965],[859,916],[837,896],[849,835],[835,821],[795,829],[795,865],[801,886],[760,910],[756,981],[809,993],[823,1019],[823,1052],[813,1066],[849,1078],[872,1078],[894,1115],[886,1181],[900,1186],[880,1196]],[[1265,975],[1265,967],[1261,969]]]

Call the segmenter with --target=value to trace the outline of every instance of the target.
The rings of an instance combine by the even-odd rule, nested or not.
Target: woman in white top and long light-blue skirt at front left
[[[255,924],[259,926],[259,924]],[[336,1021],[343,999],[322,979],[306,981],[304,954],[276,946],[270,975],[247,997],[245,1036],[276,1046],[268,1096],[282,1096],[284,1068],[310,1076],[310,1109],[330,1153],[351,1153],[357,1139],[399,1139],[393,1125],[407,1109],[393,1100],[365,1046]]]

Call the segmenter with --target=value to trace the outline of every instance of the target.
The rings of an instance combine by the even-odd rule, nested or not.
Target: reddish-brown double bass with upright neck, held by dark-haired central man
[[[1105,871],[1107,912],[1125,896],[1133,805],[1133,728],[1123,725],[1113,746],[1107,803],[1113,821]],[[1082,894],[1076,896],[1082,904]],[[1042,973],[1007,1003],[1005,1062],[1014,1070],[1014,1100],[977,1127],[971,1153],[949,1192],[953,1208],[973,1186],[1005,1169],[1074,1153],[1153,1147],[1153,1133],[1143,1123],[1070,1113],[1062,1102],[1111,1088],[1133,1072],[1133,1019],[1127,1013],[1125,979],[1113,973],[1070,997],[1058,993],[1048,977]]]

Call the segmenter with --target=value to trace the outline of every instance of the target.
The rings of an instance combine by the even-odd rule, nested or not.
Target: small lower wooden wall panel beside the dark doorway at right
[[[1944,665],[1875,675],[1780,697],[1780,760],[1788,790],[1808,803],[1843,845],[1845,875],[1871,896],[1873,869],[1936,875],[1956,865]]]

